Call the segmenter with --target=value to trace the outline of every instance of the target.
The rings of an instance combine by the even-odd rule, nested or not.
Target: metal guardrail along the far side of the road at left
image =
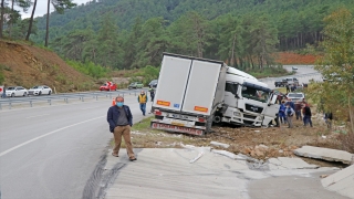
[[[62,94],[53,94],[46,96],[27,96],[27,97],[6,97],[0,100],[0,109],[4,104],[9,105],[9,109],[11,109],[12,104],[17,103],[30,103],[31,107],[33,107],[33,103],[35,102],[48,102],[49,105],[52,105],[52,101],[62,101],[67,104],[70,98],[79,98],[84,102],[84,98],[96,98],[98,101],[98,96],[105,96],[112,98],[112,96],[123,96],[124,95],[137,95],[142,90],[126,90],[126,91],[111,91],[111,92],[85,92],[85,93],[62,93]],[[144,90],[147,92],[147,90]]]

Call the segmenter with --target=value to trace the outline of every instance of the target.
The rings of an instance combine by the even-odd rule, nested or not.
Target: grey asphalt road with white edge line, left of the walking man
[[[82,198],[112,138],[106,122],[111,103],[1,111],[0,198]],[[125,104],[134,122],[143,118],[136,96],[126,96]]]

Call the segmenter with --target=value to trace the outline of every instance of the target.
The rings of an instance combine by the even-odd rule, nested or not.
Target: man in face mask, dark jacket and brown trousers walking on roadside
[[[112,156],[118,157],[123,136],[129,160],[134,161],[136,160],[136,158],[131,142],[131,127],[133,126],[133,115],[129,106],[124,105],[124,98],[122,96],[117,96],[115,101],[116,105],[111,106],[107,113],[110,132],[113,133],[115,143]]]

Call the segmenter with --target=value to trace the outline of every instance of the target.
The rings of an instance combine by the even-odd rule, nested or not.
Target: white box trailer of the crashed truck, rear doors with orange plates
[[[223,103],[223,62],[164,53],[152,127],[202,135]]]

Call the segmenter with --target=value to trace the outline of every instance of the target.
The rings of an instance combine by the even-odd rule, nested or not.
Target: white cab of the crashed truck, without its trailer
[[[277,117],[277,95],[256,77],[229,67],[226,75],[225,113],[221,122],[244,126],[268,126]]]

